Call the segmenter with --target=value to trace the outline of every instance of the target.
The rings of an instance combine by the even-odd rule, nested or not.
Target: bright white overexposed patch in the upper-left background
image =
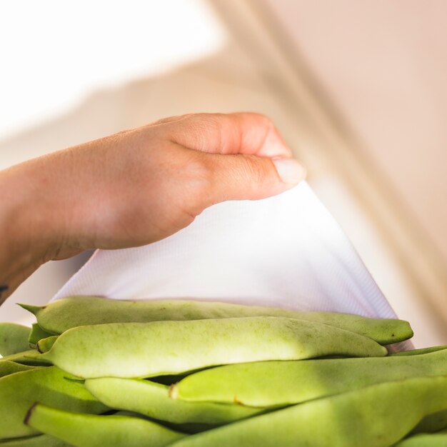
[[[203,0],[0,2],[0,138],[113,89],[214,54],[226,34]]]

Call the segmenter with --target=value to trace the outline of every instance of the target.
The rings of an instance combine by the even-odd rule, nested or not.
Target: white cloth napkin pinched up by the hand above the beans
[[[199,298],[395,318],[353,246],[305,182],[206,209],[139,248],[98,250],[54,299]]]

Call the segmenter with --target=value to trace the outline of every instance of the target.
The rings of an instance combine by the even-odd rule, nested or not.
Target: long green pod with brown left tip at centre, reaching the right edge
[[[238,363],[186,376],[171,387],[184,401],[269,407],[300,403],[374,383],[447,376],[447,350],[418,356]]]

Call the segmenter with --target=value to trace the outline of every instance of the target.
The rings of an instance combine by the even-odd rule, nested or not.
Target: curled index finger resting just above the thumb
[[[291,158],[291,150],[266,116],[192,114],[162,120],[159,131],[188,149],[212,154],[246,154]]]

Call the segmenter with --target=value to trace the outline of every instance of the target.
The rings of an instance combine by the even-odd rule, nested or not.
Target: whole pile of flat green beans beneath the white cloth
[[[447,346],[408,322],[64,298],[0,323],[0,447],[447,446]]]

